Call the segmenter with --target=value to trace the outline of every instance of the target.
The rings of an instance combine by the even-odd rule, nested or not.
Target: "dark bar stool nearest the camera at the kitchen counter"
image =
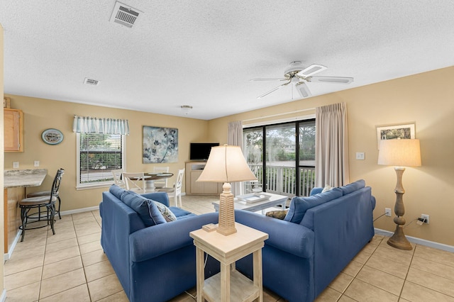
[[[55,202],[58,200],[58,189],[60,188],[60,183],[62,181],[62,176],[65,174],[64,169],[58,169],[57,176],[55,177],[54,181],[52,182],[52,188],[50,189],[50,195],[48,196],[36,196],[36,197],[28,197],[23,198],[19,201],[19,208],[21,208],[21,221],[22,224],[19,226],[19,230],[22,230],[22,237],[21,242],[23,241],[23,237],[26,235],[26,230],[33,230],[35,228],[44,228],[50,224],[50,228],[52,228],[52,233],[55,235]],[[47,210],[47,216],[45,218],[36,217],[36,213],[30,213],[32,209],[44,207]],[[38,225],[37,227],[30,228],[27,227],[30,223],[38,223],[40,221],[47,221],[45,225]]]

